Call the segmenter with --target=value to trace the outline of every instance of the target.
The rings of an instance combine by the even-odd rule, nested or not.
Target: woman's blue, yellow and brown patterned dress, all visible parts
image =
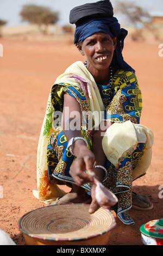
[[[75,79],[77,80],[78,77],[75,77]],[[135,74],[129,71],[117,70],[112,78],[111,88],[98,85],[98,89],[105,107],[105,120],[117,123],[124,123],[130,120],[134,124],[139,124],[142,111],[142,97]],[[54,84],[52,87],[52,105],[55,111],[62,112],[64,93],[77,99],[83,113],[90,111],[84,90],[70,83]],[[108,102],[108,95],[110,95],[110,102]],[[90,131],[88,131],[89,129],[87,129],[89,118],[85,119],[84,124],[82,126],[83,137],[86,139],[91,150],[92,136]],[[134,224],[127,211],[131,208],[132,175],[133,169],[141,160],[145,150],[145,143],[139,143],[133,153],[128,154],[126,158],[122,159],[118,168],[109,160],[106,161],[105,168],[108,170],[108,178],[104,181],[103,185],[116,194],[118,204],[114,210],[125,224]],[[69,170],[74,158],[67,149],[67,140],[61,130],[59,118],[55,117],[55,131],[51,134],[47,147],[49,182],[71,186],[74,181],[69,174]],[[87,193],[90,193],[91,184],[85,184],[83,187]]]

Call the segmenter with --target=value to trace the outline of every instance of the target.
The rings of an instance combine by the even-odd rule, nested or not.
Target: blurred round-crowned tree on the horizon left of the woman
[[[22,21],[36,24],[39,26],[39,29],[41,29],[41,25],[45,25],[45,32],[47,32],[48,25],[55,24],[59,20],[58,12],[35,4],[23,5],[20,16],[22,17]]]

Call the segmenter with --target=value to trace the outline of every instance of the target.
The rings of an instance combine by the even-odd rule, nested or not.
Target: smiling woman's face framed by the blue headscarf
[[[92,69],[108,69],[117,44],[116,38],[97,32],[79,44],[80,53],[86,57],[87,66]]]

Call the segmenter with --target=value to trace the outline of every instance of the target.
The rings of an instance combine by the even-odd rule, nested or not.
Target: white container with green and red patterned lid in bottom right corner
[[[144,245],[163,245],[163,218],[143,224],[140,232]]]

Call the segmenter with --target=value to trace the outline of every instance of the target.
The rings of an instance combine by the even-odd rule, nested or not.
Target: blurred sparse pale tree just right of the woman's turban
[[[143,39],[143,29],[149,29],[152,21],[148,11],[137,6],[134,2],[117,1],[115,12],[125,16],[127,23],[135,28],[131,35],[133,40]]]

